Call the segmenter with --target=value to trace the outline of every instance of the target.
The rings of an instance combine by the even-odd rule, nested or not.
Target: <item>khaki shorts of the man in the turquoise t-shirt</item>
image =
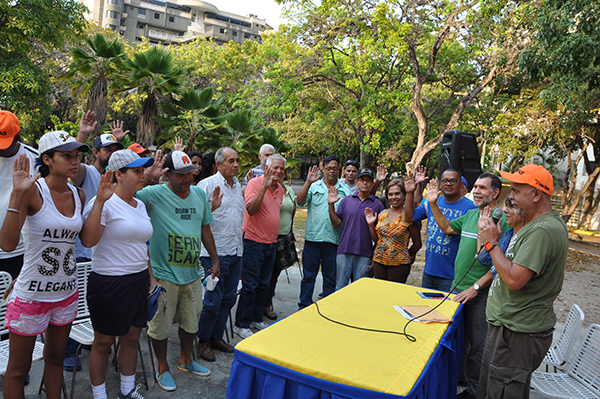
[[[163,301],[158,299],[156,315],[148,323],[148,335],[158,341],[169,337],[173,320],[179,328],[189,334],[196,334],[198,321],[202,313],[202,281],[198,279],[186,285],[177,285],[165,280],[156,280],[167,290],[164,293],[167,302],[163,312]]]

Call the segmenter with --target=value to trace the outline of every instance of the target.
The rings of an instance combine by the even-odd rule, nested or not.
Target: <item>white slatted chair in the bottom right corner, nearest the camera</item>
[[[600,325],[588,328],[566,374],[535,371],[531,386],[545,398],[600,398]]]

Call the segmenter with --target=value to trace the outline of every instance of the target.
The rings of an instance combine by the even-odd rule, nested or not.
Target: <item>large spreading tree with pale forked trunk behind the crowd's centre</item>
[[[516,65],[518,34],[509,29],[518,12],[509,1],[281,3],[299,21],[284,34],[305,53],[290,74],[323,88],[333,110],[324,115],[355,136],[363,164],[369,152],[408,152],[399,143],[418,164]],[[382,141],[396,144],[384,149]]]

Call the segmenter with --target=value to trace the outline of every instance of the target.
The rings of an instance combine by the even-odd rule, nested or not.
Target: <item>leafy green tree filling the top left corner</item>
[[[44,60],[85,27],[77,0],[0,0],[0,103],[22,120],[24,133],[38,133],[50,112]]]

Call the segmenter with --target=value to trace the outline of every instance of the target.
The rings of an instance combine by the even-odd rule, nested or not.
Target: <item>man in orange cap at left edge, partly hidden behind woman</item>
[[[10,193],[12,192],[12,173],[15,159],[20,154],[25,154],[29,159],[29,174],[35,172],[35,160],[38,152],[33,148],[19,142],[21,124],[19,119],[8,111],[0,111],[0,227],[8,209]],[[25,248],[22,240],[12,252],[4,252],[0,249],[0,270],[8,272],[12,278],[16,278],[23,266],[23,254]]]

